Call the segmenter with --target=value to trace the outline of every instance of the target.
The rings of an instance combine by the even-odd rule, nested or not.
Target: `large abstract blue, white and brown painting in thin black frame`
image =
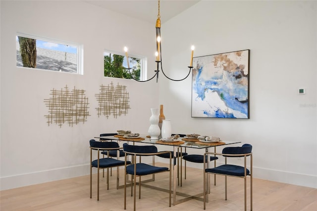
[[[193,58],[192,117],[250,119],[250,50]]]

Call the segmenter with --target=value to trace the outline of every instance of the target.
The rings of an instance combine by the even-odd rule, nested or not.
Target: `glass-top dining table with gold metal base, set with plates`
[[[205,152],[208,152],[210,148],[214,148],[214,152],[216,151],[216,147],[218,146],[227,146],[227,145],[232,145],[232,144],[239,144],[241,143],[240,141],[223,141],[220,140],[219,142],[201,142],[198,140],[193,140],[193,139],[186,139],[184,137],[180,137],[174,141],[170,142],[163,142],[161,140],[151,140],[150,137],[147,137],[147,135],[140,135],[138,138],[131,138],[131,139],[124,139],[122,136],[115,135],[115,136],[98,136],[95,137],[100,139],[100,141],[112,141],[112,140],[117,140],[117,141],[123,141],[123,142],[134,142],[134,143],[145,143],[145,144],[154,144],[154,145],[164,145],[164,146],[170,146],[173,147],[173,153],[174,153],[174,158],[177,158],[176,152],[183,152],[183,148],[185,148],[185,152],[187,148],[192,148],[192,149],[205,149]],[[204,152],[204,153],[205,153]],[[202,153],[202,155],[204,154]],[[209,158],[208,158],[209,160]],[[182,164],[181,164],[182,165]],[[177,192],[177,167],[176,163],[174,162],[173,165],[173,205],[177,205],[183,202],[186,202],[190,199],[196,199],[203,201],[201,196],[203,196],[203,193],[201,194],[196,194],[196,195],[190,195],[189,193],[180,193]],[[182,177],[182,176],[181,176]],[[208,182],[209,183],[209,182]],[[151,186],[148,186],[151,187]],[[155,188],[158,189],[158,188]],[[162,189],[159,189],[161,191],[164,191]],[[183,198],[177,200],[176,195],[180,195]],[[184,198],[185,197],[185,198]]]

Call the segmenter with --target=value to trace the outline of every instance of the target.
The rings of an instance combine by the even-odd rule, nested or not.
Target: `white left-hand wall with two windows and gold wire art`
[[[82,44],[84,75],[16,67],[17,32]],[[89,174],[94,136],[147,132],[150,108],[159,107],[158,84],[103,77],[103,52],[128,46],[154,67],[152,37],[149,23],[81,1],[1,1],[1,189]],[[98,117],[95,94],[111,82],[127,86],[131,109],[117,118]],[[86,90],[91,116],[73,127],[48,126],[44,99],[65,85]]]

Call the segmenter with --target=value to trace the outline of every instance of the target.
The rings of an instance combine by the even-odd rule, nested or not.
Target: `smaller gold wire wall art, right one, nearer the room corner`
[[[96,94],[98,101],[98,117],[101,115],[106,116],[107,118],[110,115],[113,115],[114,118],[121,116],[122,114],[127,114],[130,109],[129,105],[129,93],[126,90],[126,86],[118,85],[113,86],[111,82],[110,85],[100,86],[99,94]]]

